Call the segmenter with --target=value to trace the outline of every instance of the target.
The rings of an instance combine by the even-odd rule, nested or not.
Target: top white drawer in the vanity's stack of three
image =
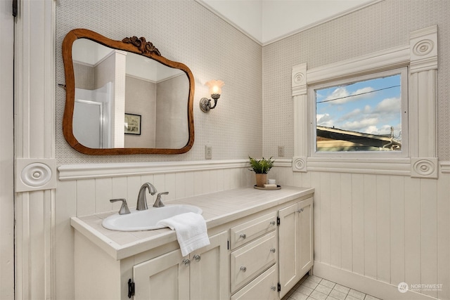
[[[255,238],[260,237],[261,235],[264,235],[264,233],[268,233],[275,228],[276,211],[235,226],[230,230],[231,249],[239,247],[251,240],[255,240]]]

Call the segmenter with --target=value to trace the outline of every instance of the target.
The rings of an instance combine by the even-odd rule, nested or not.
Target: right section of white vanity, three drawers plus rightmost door
[[[231,300],[278,300],[299,282],[314,263],[312,213],[310,197],[231,228]]]

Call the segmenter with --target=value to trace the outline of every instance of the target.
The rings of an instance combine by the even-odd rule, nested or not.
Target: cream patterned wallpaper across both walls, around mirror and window
[[[107,4],[107,5],[106,5]],[[61,131],[65,92],[56,93],[56,157],[59,164],[153,162],[248,155],[293,155],[293,65],[308,68],[409,44],[409,32],[438,25],[439,70],[437,130],[439,159],[450,159],[450,1],[385,0],[291,37],[261,47],[193,0],[60,0],[56,8],[56,79],[64,82],[60,51],[65,34],[88,28],[111,39],[146,37],[163,56],[188,65],[195,77],[195,143],[183,155],[83,155],[65,142]],[[101,18],[100,18],[101,16]],[[225,86],[217,109],[205,114],[198,101],[203,84],[221,79]]]

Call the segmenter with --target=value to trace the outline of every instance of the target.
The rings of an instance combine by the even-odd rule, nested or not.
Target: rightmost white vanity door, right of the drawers
[[[312,198],[278,211],[278,262],[283,297],[308,272],[313,258]]]

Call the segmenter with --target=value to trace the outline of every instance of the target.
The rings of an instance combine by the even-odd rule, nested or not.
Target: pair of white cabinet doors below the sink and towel
[[[133,266],[134,299],[228,299],[227,237],[210,237],[188,257],[178,249]]]

